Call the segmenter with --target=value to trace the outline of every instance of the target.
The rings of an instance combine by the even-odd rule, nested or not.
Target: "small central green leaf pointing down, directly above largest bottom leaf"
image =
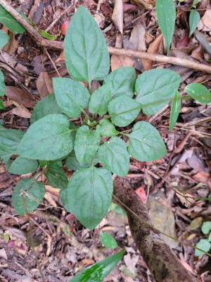
[[[90,130],[89,126],[83,125],[78,128],[75,135],[75,156],[80,165],[87,164],[94,158],[101,142],[100,130]]]

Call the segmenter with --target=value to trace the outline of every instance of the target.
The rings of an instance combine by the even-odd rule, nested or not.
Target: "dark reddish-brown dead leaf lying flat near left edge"
[[[6,96],[27,108],[34,108],[36,104],[36,100],[30,93],[18,87],[6,86]]]

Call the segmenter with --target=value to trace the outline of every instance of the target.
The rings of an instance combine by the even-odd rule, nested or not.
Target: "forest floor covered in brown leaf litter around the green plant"
[[[39,30],[47,29],[51,35],[60,34],[61,25],[71,20],[75,8],[84,4],[103,30],[108,45],[165,54],[155,8],[141,6],[141,3],[154,6],[155,1],[152,0],[124,1],[122,35],[119,32],[122,16],[120,11],[113,15],[113,0],[8,2],[18,11],[23,11]],[[210,1],[200,1],[197,6],[201,17],[198,29],[206,35],[206,42],[205,39],[198,41],[195,35],[188,38],[188,15],[193,1],[175,2],[177,20],[170,56],[210,63],[211,51],[204,49],[205,44],[211,42]],[[57,72],[68,77],[68,71],[60,51],[39,47],[27,32],[10,36],[11,43],[0,54],[0,67],[8,86],[4,98],[6,109],[0,112],[0,121],[6,128],[26,130],[34,104],[49,94],[52,88],[51,78],[58,76]],[[57,38],[59,41],[63,39],[63,35]],[[176,71],[181,75],[181,94],[191,82],[200,82],[211,88],[210,74],[190,68],[112,55],[111,70],[121,66],[135,67],[137,75],[151,68]],[[208,199],[211,197],[210,116],[210,105],[184,101],[178,123],[169,133],[170,106],[152,117],[140,114],[137,120],[151,121],[158,128],[168,152],[164,158],[151,163],[131,159],[127,176],[140,200],[146,202],[156,228],[178,239],[166,238],[181,263],[198,277],[198,281],[211,281],[211,258],[207,255],[196,257],[191,247],[205,238],[201,231],[202,223],[211,221]],[[70,177],[72,171],[67,170],[66,173]],[[113,206],[99,226],[89,231],[72,214],[65,212],[58,194],[48,186],[44,204],[32,212],[30,219],[28,216],[17,216],[11,204],[11,195],[18,180],[25,177],[9,174],[4,164],[0,164],[0,281],[42,281],[39,267],[46,281],[70,281],[77,271],[117,252],[101,245],[100,231],[113,235],[119,248],[127,251],[122,262],[105,281],[153,281],[136,250],[127,216],[121,209]],[[181,241],[186,244],[181,244]]]

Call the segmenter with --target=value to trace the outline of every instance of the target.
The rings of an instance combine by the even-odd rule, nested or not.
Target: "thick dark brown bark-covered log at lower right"
[[[115,178],[113,195],[113,200],[120,204],[123,209],[125,209],[125,206],[130,209],[125,209],[125,211],[129,219],[132,236],[155,281],[195,282],[196,277],[179,262],[160,233],[153,228],[145,205],[129,186],[126,179],[122,181],[122,178]]]

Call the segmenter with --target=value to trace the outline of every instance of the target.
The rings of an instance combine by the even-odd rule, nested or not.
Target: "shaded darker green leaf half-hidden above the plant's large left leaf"
[[[49,114],[62,114],[63,111],[58,106],[55,95],[49,94],[48,96],[41,99],[36,106],[34,106],[34,110],[32,111],[31,116],[31,124],[35,121],[38,121],[39,118],[43,118]]]

